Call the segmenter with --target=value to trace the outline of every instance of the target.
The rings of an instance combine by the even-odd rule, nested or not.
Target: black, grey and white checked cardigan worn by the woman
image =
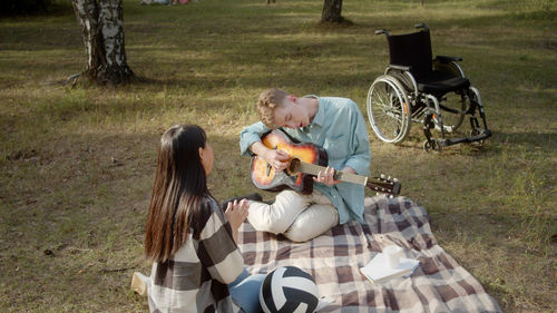
[[[201,229],[189,228],[186,243],[170,260],[153,264],[148,288],[153,313],[243,312],[227,286],[244,266],[231,225],[214,199],[202,200],[202,209]]]

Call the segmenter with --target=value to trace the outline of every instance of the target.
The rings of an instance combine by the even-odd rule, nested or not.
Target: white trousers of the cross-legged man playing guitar
[[[247,221],[256,231],[305,242],[338,225],[339,213],[331,200],[315,189],[311,195],[286,189],[276,195],[273,204],[250,202]]]

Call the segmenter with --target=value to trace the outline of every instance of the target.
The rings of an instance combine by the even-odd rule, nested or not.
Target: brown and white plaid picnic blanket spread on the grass
[[[349,222],[305,242],[240,229],[240,247],[248,272],[270,273],[297,266],[315,278],[319,295],[334,302],[321,312],[501,312],[481,284],[441,248],[426,209],[405,197],[365,198],[365,223]],[[372,283],[360,273],[382,247],[404,247],[420,261],[411,277]]]

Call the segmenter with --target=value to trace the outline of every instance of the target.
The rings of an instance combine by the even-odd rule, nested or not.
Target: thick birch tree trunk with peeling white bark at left
[[[121,0],[71,0],[71,3],[87,52],[84,75],[101,85],[135,79],[126,60]]]

